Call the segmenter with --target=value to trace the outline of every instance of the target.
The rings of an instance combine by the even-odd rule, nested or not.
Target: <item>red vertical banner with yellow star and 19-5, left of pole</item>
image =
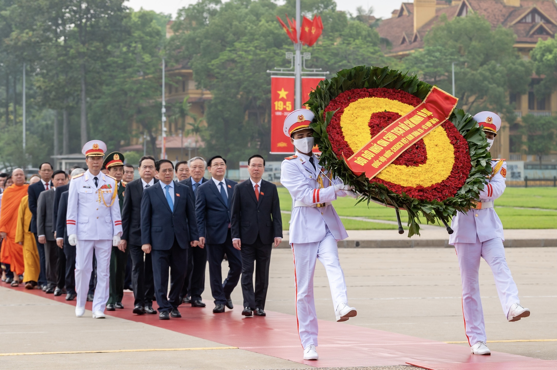
[[[292,110],[294,76],[271,76],[271,154],[294,153],[294,145],[282,131],[284,119]]]

